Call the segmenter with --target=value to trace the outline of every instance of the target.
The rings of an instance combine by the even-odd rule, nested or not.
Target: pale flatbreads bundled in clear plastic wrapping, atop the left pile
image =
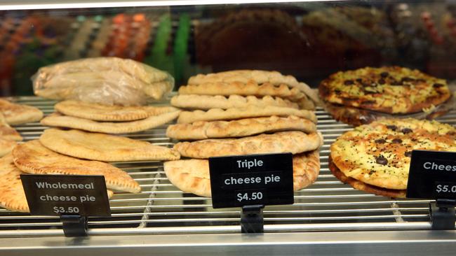
[[[132,59],[97,57],[43,66],[32,76],[34,93],[48,99],[76,99],[138,106],[166,97],[174,78]]]

